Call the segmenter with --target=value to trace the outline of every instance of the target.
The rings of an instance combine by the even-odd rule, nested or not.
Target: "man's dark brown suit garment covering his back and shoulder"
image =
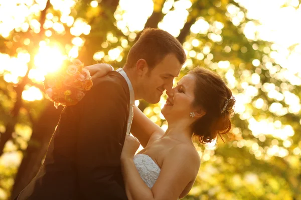
[[[93,83],[77,105],[63,109],[43,165],[16,199],[127,199],[120,153],[128,85],[115,71]]]

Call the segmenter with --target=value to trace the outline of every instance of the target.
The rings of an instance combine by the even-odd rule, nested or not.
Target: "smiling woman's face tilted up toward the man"
[[[196,77],[193,74],[185,75],[171,91],[162,108],[162,114],[168,121],[189,118],[194,107]]]

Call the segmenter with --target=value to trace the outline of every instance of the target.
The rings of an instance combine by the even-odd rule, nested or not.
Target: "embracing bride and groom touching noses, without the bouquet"
[[[123,68],[87,66],[93,87],[66,106],[36,177],[16,199],[179,199],[193,186],[203,143],[231,128],[235,99],[215,72],[197,67],[173,87],[186,61],[181,43],[145,29]],[[134,100],[158,103],[164,131]],[[129,135],[132,133],[135,137]],[[135,154],[141,144],[144,148]]]

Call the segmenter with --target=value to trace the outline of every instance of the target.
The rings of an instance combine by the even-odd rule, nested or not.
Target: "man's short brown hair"
[[[185,63],[186,54],[177,38],[162,29],[145,28],[129,50],[125,66],[132,67],[139,59],[145,59],[148,66],[153,68],[170,53],[175,54],[181,64]]]

